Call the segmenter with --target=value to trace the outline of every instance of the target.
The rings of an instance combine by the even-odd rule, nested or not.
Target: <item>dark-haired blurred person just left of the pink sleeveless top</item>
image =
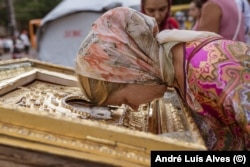
[[[192,29],[197,30],[202,8],[201,0],[192,0],[189,5],[188,16],[192,18]]]

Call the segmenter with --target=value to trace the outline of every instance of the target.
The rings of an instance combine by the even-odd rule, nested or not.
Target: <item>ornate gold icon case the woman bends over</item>
[[[206,150],[174,89],[141,105],[89,107],[74,70],[0,62],[0,144],[117,166],[149,166],[151,150]]]

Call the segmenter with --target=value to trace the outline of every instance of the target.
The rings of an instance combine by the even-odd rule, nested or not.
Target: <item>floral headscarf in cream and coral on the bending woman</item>
[[[127,7],[104,13],[92,25],[76,58],[76,73],[117,83],[174,81],[171,47],[214,33],[165,30],[154,18]],[[174,42],[172,42],[174,41]]]

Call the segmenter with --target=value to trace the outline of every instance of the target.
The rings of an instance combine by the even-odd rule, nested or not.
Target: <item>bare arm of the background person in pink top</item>
[[[222,11],[219,5],[213,2],[206,2],[202,6],[199,19],[198,31],[211,31],[219,33]]]

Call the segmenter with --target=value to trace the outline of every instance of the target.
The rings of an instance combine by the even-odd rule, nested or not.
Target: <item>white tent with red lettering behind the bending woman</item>
[[[140,0],[63,0],[42,19],[37,33],[38,58],[74,67],[76,53],[92,23],[118,6],[138,10]]]

